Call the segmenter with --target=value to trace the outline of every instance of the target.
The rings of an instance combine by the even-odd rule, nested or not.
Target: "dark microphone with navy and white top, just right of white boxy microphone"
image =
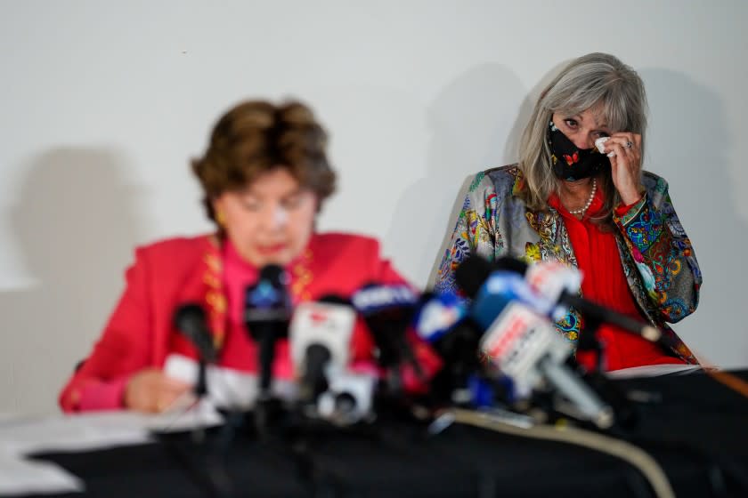
[[[415,374],[423,379],[423,370],[405,338],[418,303],[418,296],[411,287],[364,285],[354,293],[352,301],[377,344],[378,363],[389,372],[390,388],[395,392],[402,390],[399,367],[405,361],[410,362]]]

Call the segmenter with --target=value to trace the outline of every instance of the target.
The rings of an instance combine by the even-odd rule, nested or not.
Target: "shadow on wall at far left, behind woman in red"
[[[113,309],[141,225],[116,151],[54,149],[24,170],[10,216],[38,284],[0,293],[0,412],[45,414]]]

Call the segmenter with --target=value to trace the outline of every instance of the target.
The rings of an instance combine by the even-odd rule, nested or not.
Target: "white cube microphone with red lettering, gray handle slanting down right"
[[[520,394],[529,395],[545,380],[572,403],[580,418],[601,429],[613,425],[613,409],[564,364],[570,345],[545,317],[524,304],[510,302],[501,310],[484,334],[481,348]]]

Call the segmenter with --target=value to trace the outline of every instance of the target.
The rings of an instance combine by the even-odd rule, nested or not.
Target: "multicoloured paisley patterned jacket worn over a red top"
[[[631,293],[642,315],[663,330],[671,352],[697,363],[666,322],[675,323],[694,312],[702,275],[695,253],[671,204],[668,184],[644,172],[645,195],[622,217],[614,214],[618,252]],[[456,291],[454,269],[468,254],[492,261],[503,255],[527,262],[577,261],[561,215],[527,209],[517,193],[524,177],[516,165],[493,168],[470,184],[451,244],[443,255],[435,283],[440,292]],[[556,323],[559,333],[576,346],[583,318],[576,309]]]

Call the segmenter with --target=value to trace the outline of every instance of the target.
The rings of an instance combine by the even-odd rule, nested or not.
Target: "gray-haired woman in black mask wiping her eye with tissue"
[[[646,93],[613,55],[590,53],[541,92],[516,165],[478,173],[439,267],[435,290],[455,291],[454,269],[471,253],[580,269],[581,295],[646,321],[661,348],[613,325],[598,328],[607,370],[696,359],[666,322],[698,303],[701,272],[663,178],[642,170]],[[585,329],[576,309],[556,323],[576,347]],[[588,351],[582,365],[592,366]]]

